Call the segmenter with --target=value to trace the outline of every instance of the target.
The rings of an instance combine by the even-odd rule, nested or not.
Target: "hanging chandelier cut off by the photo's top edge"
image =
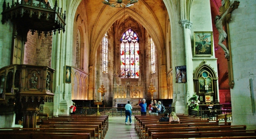
[[[103,4],[109,5],[116,8],[130,7],[139,0],[104,0]]]

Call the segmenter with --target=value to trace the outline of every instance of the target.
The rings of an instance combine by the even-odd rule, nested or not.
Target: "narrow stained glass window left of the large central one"
[[[102,73],[108,73],[108,38],[107,34],[102,38]]]

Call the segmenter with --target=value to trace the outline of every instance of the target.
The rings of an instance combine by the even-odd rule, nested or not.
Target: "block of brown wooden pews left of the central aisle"
[[[42,118],[39,128],[0,128],[1,139],[103,139],[108,116],[59,115]]]

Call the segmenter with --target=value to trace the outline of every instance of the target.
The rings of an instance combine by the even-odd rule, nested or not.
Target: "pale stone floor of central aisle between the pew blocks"
[[[108,131],[104,139],[139,139],[134,129],[134,116],[132,116],[132,124],[125,123],[124,117],[108,117]]]

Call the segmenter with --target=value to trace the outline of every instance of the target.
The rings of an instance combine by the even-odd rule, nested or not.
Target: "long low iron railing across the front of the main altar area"
[[[165,113],[170,113],[171,111],[175,111],[174,107],[165,107],[166,111]],[[108,116],[125,116],[125,109],[124,108],[112,108],[112,107],[105,107],[105,108],[76,108],[76,114],[77,115],[97,115],[97,112],[99,110],[100,115],[108,115]],[[132,116],[134,115],[140,115],[141,108],[133,108],[132,110]],[[147,114],[148,110],[147,110]]]

